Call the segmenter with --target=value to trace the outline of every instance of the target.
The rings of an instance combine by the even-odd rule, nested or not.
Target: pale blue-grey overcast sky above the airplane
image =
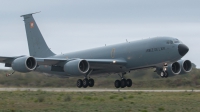
[[[0,56],[29,55],[23,18],[33,15],[56,54],[176,37],[200,68],[200,0],[0,0]],[[4,68],[1,64],[0,68]]]

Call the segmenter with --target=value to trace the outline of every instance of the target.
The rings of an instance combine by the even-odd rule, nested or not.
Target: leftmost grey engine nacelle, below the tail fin
[[[25,56],[12,62],[12,69],[18,72],[30,72],[37,67],[37,61],[33,57]]]

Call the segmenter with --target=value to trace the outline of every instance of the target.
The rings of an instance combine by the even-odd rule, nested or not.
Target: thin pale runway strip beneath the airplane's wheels
[[[98,88],[0,88],[0,91],[47,91],[47,92],[200,92],[200,90],[135,90]]]

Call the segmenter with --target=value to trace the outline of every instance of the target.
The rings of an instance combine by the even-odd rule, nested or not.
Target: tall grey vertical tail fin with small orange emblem
[[[35,13],[21,16],[24,18],[30,56],[44,58],[55,55],[47,46],[32,14]]]

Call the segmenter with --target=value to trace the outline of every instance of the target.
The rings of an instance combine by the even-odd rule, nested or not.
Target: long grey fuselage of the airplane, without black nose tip
[[[104,69],[93,71],[92,75],[104,73],[118,73],[134,69],[158,67],[165,63],[173,63],[183,56],[180,55],[178,46],[183,44],[172,37],[155,37],[137,41],[125,42],[94,49],[54,55],[51,58],[59,59],[123,59],[127,64],[124,68],[105,66]],[[106,69],[108,68],[108,69]],[[37,71],[69,76],[62,72],[51,71],[51,66],[40,65]]]

